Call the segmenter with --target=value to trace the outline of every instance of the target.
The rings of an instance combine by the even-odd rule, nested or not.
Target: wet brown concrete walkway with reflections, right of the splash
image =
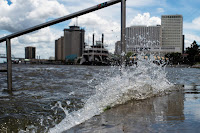
[[[191,109],[190,106],[200,109],[198,102],[187,103],[190,101],[187,100],[191,94],[188,94],[189,90],[193,91],[186,87],[165,96],[129,101],[65,133],[198,133],[200,121],[194,119],[196,116],[192,112],[186,113],[186,110]],[[196,115],[200,115],[200,112]]]

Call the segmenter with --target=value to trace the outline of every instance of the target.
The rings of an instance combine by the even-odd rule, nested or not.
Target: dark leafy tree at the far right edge
[[[188,54],[187,58],[190,65],[200,61],[200,50],[196,41],[191,44],[191,47],[186,48],[186,53]]]

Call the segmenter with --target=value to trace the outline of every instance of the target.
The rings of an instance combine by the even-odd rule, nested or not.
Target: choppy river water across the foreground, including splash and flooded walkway
[[[200,69],[19,64],[12,94],[0,75],[1,133],[200,132]]]

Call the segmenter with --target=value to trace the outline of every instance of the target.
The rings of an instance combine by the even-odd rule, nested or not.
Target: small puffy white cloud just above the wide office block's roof
[[[159,17],[151,17],[150,13],[138,14],[132,20],[130,25],[160,25],[161,19]]]

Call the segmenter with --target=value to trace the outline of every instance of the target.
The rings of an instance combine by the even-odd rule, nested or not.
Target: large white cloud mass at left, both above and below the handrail
[[[67,15],[66,7],[56,0],[12,0],[9,6],[6,0],[0,1],[0,29],[16,32],[43,22],[50,18]],[[37,32],[11,40],[12,54],[24,57],[24,47],[36,46],[36,54],[41,58],[54,56],[55,39],[63,31],[45,28]],[[1,35],[5,36],[5,35]],[[5,43],[1,43],[0,53],[5,54]]]

